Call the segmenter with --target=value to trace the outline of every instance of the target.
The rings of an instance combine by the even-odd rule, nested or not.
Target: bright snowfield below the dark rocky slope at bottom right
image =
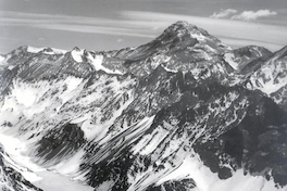
[[[242,169],[234,171],[228,179],[220,179],[217,174],[212,173],[209,167],[203,165],[197,154],[194,157],[185,158],[178,168],[160,179],[157,184],[180,178],[192,178],[198,191],[242,191],[259,190],[259,188],[261,191],[286,191],[287,189],[287,187],[276,189],[273,180],[267,181],[261,176],[245,176]]]

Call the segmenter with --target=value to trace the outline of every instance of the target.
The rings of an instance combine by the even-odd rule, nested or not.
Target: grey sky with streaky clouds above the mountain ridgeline
[[[20,46],[116,50],[187,21],[233,47],[287,46],[287,0],[0,0],[0,53]]]

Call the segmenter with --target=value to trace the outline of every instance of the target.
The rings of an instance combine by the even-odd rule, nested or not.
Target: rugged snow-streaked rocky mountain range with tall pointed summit
[[[135,48],[1,55],[0,187],[286,191],[286,50],[177,22]]]

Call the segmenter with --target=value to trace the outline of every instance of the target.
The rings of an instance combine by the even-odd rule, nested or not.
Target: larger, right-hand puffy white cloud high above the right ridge
[[[260,17],[269,17],[276,15],[277,13],[275,11],[270,10],[259,10],[257,12],[254,11],[244,11],[242,13],[238,15],[232,16],[232,20],[242,20],[242,21],[254,21]]]

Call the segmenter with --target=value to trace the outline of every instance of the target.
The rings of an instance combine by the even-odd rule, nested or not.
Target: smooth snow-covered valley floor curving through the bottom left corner
[[[15,170],[22,174],[25,179],[40,189],[45,191],[55,191],[59,189],[61,191],[93,190],[93,188],[89,186],[80,184],[77,181],[72,181],[68,177],[62,176],[55,171],[49,171],[33,163],[32,158],[25,155],[25,153],[30,150],[27,143],[13,138],[12,136],[7,136],[3,132],[0,133],[0,143],[11,157],[9,158],[8,156],[3,155],[4,160],[7,160]],[[79,155],[80,154],[82,153],[79,152]],[[67,165],[72,165],[72,167],[78,164],[78,155],[67,162]],[[74,170],[75,168],[72,169]],[[61,170],[63,170],[63,168],[61,168]],[[68,171],[68,169],[66,168],[65,171]]]

